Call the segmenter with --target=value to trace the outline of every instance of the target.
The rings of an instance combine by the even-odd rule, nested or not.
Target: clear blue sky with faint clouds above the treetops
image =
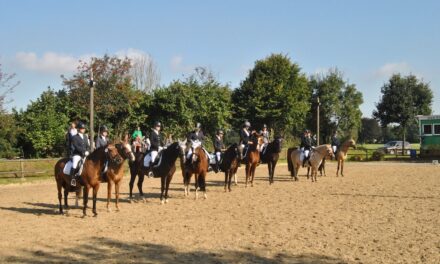
[[[338,67],[371,116],[392,73],[415,74],[440,114],[440,1],[13,1],[0,0],[0,63],[21,81],[25,108],[61,89],[77,61],[150,54],[161,84],[207,66],[237,87],[254,62],[284,53],[307,75]]]

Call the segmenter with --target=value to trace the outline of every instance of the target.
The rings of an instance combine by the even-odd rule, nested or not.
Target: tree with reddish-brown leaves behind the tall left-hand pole
[[[133,124],[135,109],[139,106],[144,92],[134,89],[130,76],[131,62],[104,55],[92,58],[90,63],[80,62],[77,73],[70,79],[63,77],[73,104],[72,117],[89,119],[90,72],[96,81],[94,106],[95,124],[107,125],[114,134],[120,136]],[[139,120],[137,120],[139,121]],[[96,127],[93,128],[96,131]]]

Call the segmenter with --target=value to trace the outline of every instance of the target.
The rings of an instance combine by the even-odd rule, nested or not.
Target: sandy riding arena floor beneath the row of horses
[[[0,262],[440,263],[440,166],[348,163],[345,177],[335,172],[328,163],[317,183],[292,182],[281,164],[269,186],[261,165],[245,188],[242,167],[231,193],[223,174],[209,173],[208,199],[197,201],[176,173],[165,205],[159,179],[145,180],[146,201],[130,203],[125,177],[121,211],[107,212],[102,184],[96,218],[75,207],[59,215],[53,179],[0,186]]]

